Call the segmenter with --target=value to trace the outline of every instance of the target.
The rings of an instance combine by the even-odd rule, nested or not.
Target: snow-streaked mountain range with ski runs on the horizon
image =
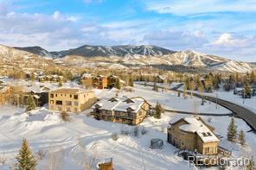
[[[54,58],[55,63],[69,66],[97,66],[99,63],[118,66],[193,66],[227,72],[250,72],[256,69],[253,63],[202,54],[193,50],[172,51],[163,47],[142,46],[82,46],[60,52],[48,52],[42,47],[15,47],[17,54],[35,54]],[[0,49],[1,50],[1,49]],[[1,51],[0,51],[1,52]],[[98,64],[97,64],[98,63]],[[109,64],[106,64],[108,66]]]

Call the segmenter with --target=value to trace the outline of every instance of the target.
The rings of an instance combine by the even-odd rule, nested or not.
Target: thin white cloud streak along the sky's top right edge
[[[162,0],[144,1],[148,10],[179,16],[216,12],[255,12],[254,0]]]

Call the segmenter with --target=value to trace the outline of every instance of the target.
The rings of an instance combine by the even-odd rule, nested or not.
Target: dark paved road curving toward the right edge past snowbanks
[[[143,85],[143,84],[138,84],[138,85]],[[149,86],[153,86],[153,85],[149,85]],[[180,88],[181,85],[177,85],[174,88],[170,88],[170,91],[180,91],[178,90],[178,88]],[[160,89],[163,89],[163,87],[159,87]],[[183,91],[180,91],[183,92]],[[208,97],[208,96],[201,96],[200,94],[194,93],[193,94],[195,97],[197,98],[205,98],[208,101],[214,102],[217,104],[220,104],[221,106],[227,108],[228,110],[231,110],[234,113],[234,116],[239,117],[241,119],[243,119],[255,132],[256,131],[256,113],[254,113],[251,110],[247,110],[246,108],[238,105],[238,104],[234,104],[231,103],[229,101],[226,100],[222,100],[220,98],[214,98],[214,97]]]

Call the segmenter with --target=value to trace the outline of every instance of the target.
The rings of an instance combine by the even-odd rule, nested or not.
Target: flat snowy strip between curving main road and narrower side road
[[[98,98],[111,98],[116,95],[116,91],[112,89],[112,91],[103,91],[99,93],[98,91]],[[196,110],[200,113],[212,113],[212,114],[227,114],[230,113],[224,107],[217,105],[214,103],[205,103],[201,105],[202,100],[200,98],[190,98],[184,99],[182,97],[178,97],[177,92],[175,91],[152,91],[152,87],[144,86],[144,85],[135,85],[134,91],[120,91],[119,96],[127,96],[127,97],[143,97],[145,98],[150,104],[155,106],[155,104],[160,103],[163,104],[165,109],[168,110],[182,110],[182,111],[189,111],[193,112],[195,105]]]

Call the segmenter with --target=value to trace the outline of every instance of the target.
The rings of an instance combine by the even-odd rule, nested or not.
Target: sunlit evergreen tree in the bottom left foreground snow
[[[16,156],[16,161],[16,170],[35,170],[37,162],[26,139],[22,140],[22,148]]]

